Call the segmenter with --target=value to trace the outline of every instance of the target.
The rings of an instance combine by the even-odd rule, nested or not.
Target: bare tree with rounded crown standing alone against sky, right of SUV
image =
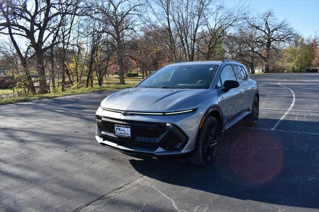
[[[247,18],[249,28],[257,31],[253,42],[258,44],[260,51],[251,50],[258,54],[264,61],[265,73],[269,73],[271,51],[278,52],[280,46],[291,42],[297,33],[286,20],[278,21],[272,10],[258,17]]]

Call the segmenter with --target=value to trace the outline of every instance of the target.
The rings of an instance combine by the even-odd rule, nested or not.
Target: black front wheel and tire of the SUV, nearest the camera
[[[208,116],[197,137],[194,154],[189,162],[199,166],[210,165],[217,155],[220,128],[215,117]]]

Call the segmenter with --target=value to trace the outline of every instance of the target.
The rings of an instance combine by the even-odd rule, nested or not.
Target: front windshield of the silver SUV
[[[140,83],[138,88],[208,89],[218,65],[165,66]]]

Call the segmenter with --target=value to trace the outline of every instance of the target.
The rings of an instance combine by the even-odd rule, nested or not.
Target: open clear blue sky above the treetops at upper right
[[[238,0],[225,0],[232,6]],[[319,0],[247,0],[256,13],[272,8],[280,19],[286,19],[292,27],[305,37],[319,33]]]

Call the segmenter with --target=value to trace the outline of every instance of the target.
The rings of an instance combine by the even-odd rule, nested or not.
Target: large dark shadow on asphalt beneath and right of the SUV
[[[223,133],[211,166],[173,158],[131,159],[130,163],[139,173],[167,184],[240,200],[318,209],[318,140],[317,134],[236,124]]]

